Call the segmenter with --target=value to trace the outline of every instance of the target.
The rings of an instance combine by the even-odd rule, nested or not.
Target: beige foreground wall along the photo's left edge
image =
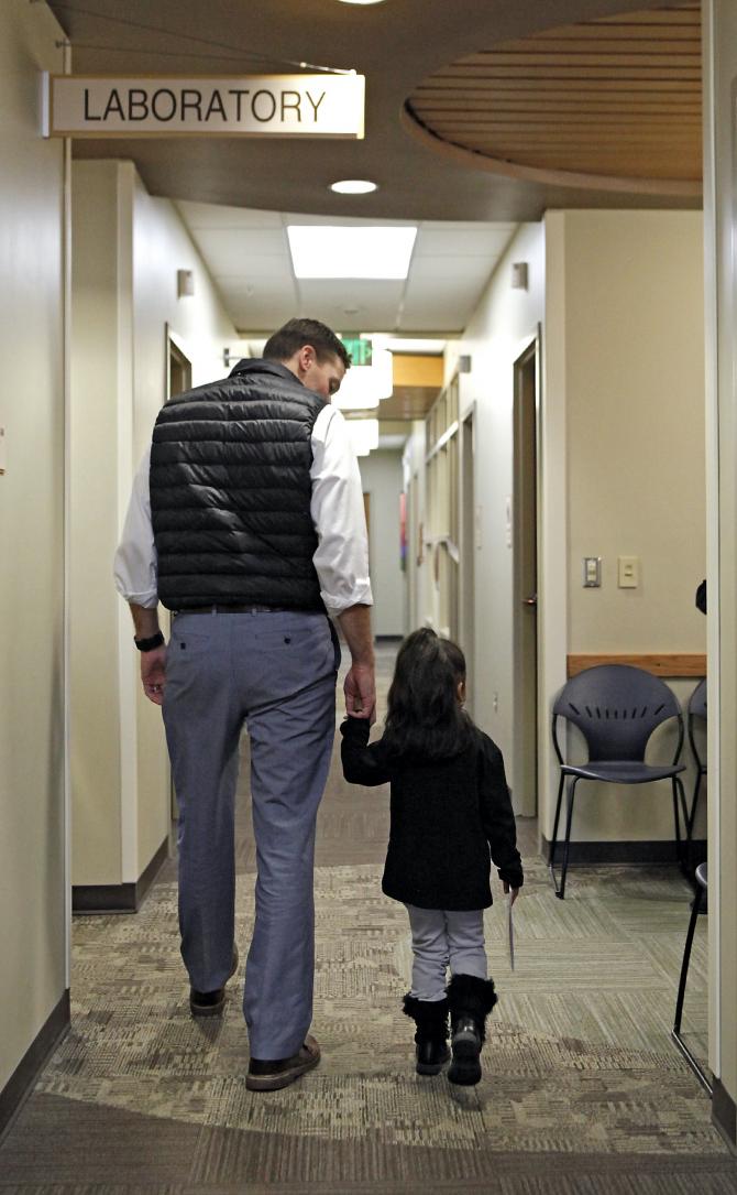
[[[45,5],[0,7],[0,1090],[67,986],[64,149],[39,136],[60,37]]]

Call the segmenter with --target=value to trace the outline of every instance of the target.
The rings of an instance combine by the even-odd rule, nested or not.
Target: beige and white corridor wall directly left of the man
[[[168,835],[169,778],[112,557],[166,399],[167,327],[193,385],[225,373],[235,330],[175,207],[151,198],[131,163],[75,163],[74,231],[73,878],[135,883]],[[178,299],[178,269],[192,270],[193,296]],[[91,644],[101,662],[92,681]]]

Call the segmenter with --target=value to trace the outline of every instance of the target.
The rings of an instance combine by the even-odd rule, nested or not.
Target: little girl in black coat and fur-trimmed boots
[[[397,655],[383,737],[368,746],[366,719],[340,729],[346,779],[391,782],[382,889],[409,913],[414,966],[403,1009],[416,1024],[417,1073],[438,1074],[448,1061],[450,1012],[448,1079],[471,1085],[496,1004],[484,951],[489,853],[513,900],[522,864],[501,752],[463,709],[465,672],[460,648],[415,631]]]

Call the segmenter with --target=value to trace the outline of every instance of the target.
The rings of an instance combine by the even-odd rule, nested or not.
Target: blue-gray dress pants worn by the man
[[[340,651],[324,614],[180,614],[163,721],[179,803],[179,925],[193,987],[231,967],[239,740],[250,739],[255,921],[243,1013],[250,1054],[295,1054],[312,1017],[315,820],[335,734]]]

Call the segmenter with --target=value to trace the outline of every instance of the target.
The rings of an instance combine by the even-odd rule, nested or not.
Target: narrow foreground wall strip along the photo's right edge
[[[708,492],[708,931],[713,1111],[737,1145],[737,396],[733,220],[737,10],[704,4]]]

